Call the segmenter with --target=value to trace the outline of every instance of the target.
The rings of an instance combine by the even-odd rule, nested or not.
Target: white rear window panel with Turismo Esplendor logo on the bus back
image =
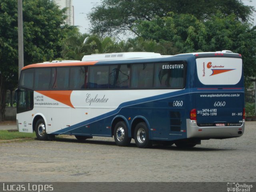
[[[235,85],[242,76],[241,58],[197,58],[196,67],[204,85]]]

